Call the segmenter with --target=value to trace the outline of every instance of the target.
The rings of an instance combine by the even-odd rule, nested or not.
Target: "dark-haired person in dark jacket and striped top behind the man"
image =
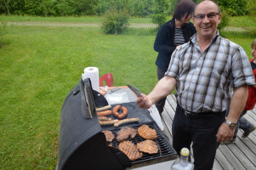
[[[173,19],[160,27],[154,43],[154,49],[158,52],[156,59],[158,80],[162,79],[168,70],[174,50],[188,42],[196,33],[195,26],[190,22],[194,8],[193,1],[181,0],[175,8]],[[165,100],[166,98],[156,102],[156,108],[160,114],[162,114]]]

